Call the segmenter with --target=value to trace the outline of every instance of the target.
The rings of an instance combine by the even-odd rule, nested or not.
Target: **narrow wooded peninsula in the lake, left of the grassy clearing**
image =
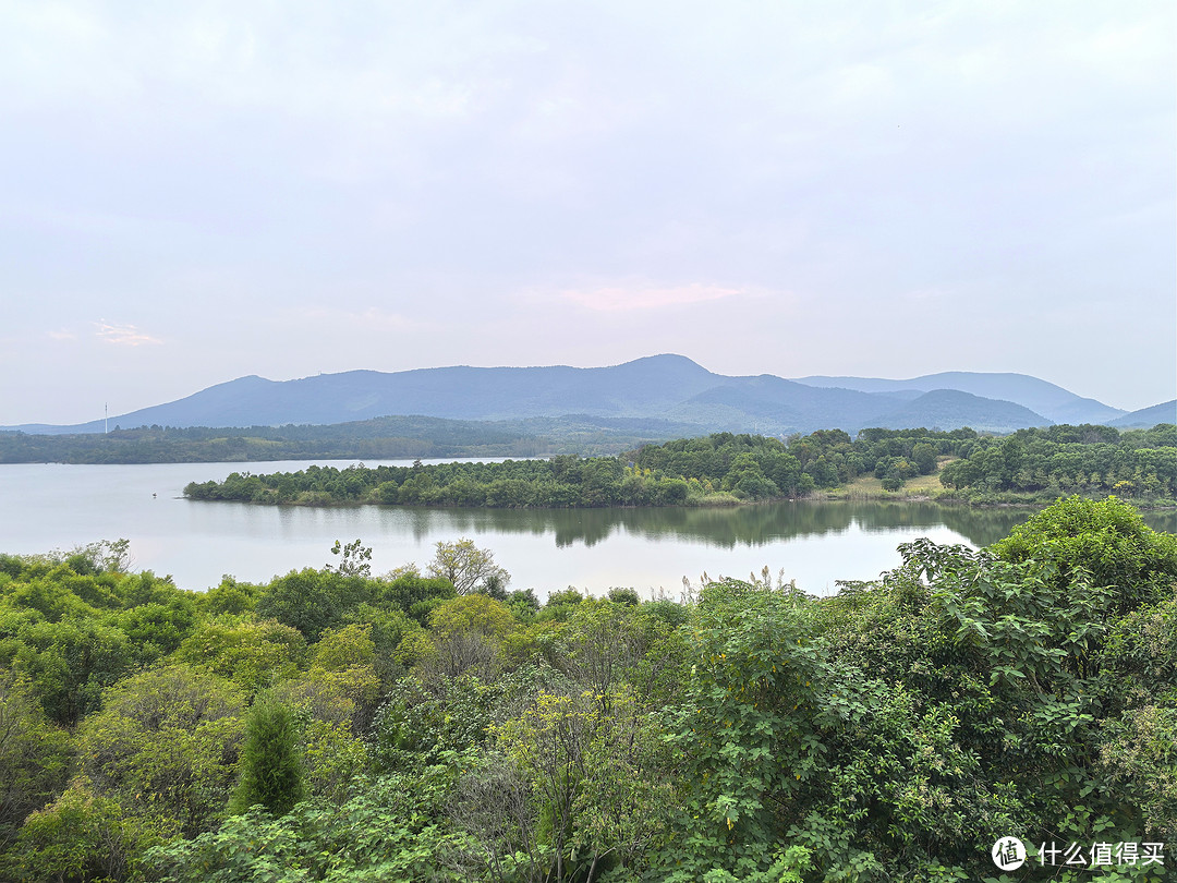
[[[972,430],[842,430],[789,442],[720,432],[645,445],[619,457],[558,456],[546,460],[353,466],[268,476],[233,473],[222,483],[189,484],[192,499],[252,503],[385,503],[524,509],[681,505],[799,497],[837,487],[864,472],[936,470],[977,438]]]

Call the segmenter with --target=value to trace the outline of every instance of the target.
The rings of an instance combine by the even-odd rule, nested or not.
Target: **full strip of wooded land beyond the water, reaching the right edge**
[[[1177,426],[1118,432],[1106,426],[1023,430],[1005,439],[972,430],[863,430],[851,439],[823,430],[787,442],[716,433],[649,444],[619,457],[421,466],[311,466],[273,474],[233,473],[189,484],[191,499],[277,504],[383,503],[526,507],[666,506],[799,498],[862,476],[882,490],[932,474],[942,462],[957,497],[995,500],[1037,491],[1115,492],[1142,502],[1177,496]]]

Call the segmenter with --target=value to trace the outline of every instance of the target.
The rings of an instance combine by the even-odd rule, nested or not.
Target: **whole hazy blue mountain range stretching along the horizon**
[[[698,426],[700,432],[856,432],[866,426],[971,426],[1008,432],[1052,423],[1151,426],[1175,419],[1175,410],[1168,403],[1128,414],[1025,374],[945,372],[910,380],[786,380],[772,374],[725,377],[667,354],[594,369],[458,366],[350,371],[284,381],[251,376],[111,417],[109,425],[245,427],[338,424],[392,414],[461,420],[577,414],[670,420]],[[101,432],[104,421],[7,429],[86,433]]]

